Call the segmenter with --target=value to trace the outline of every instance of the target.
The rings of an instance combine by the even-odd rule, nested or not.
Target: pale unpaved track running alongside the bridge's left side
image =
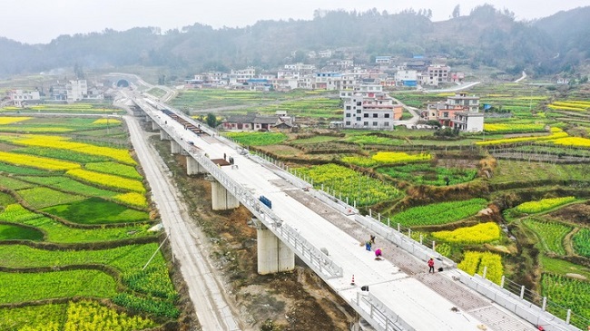
[[[152,189],[162,218],[162,223],[172,245],[172,254],[180,262],[184,281],[197,317],[205,331],[241,330],[239,319],[234,317],[235,309],[226,297],[215,268],[208,259],[207,239],[192,222],[175,189],[169,171],[162,158],[146,141],[143,130],[133,116],[123,116],[137,158],[142,164],[145,178]]]

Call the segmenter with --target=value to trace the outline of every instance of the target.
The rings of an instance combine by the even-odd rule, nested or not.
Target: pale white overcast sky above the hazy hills
[[[530,20],[579,6],[590,0],[1,0],[0,36],[28,44],[46,44],[61,34],[124,31],[135,26],[156,26],[162,31],[195,23],[242,27],[258,20],[305,19],[316,9],[366,11],[377,8],[389,14],[403,9],[432,9],[433,20],[446,20],[455,5],[461,15],[485,3],[507,8],[517,20]],[[0,56],[1,55],[0,50]]]

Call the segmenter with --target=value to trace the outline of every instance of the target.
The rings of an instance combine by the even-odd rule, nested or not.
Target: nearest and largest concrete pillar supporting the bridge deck
[[[270,231],[261,226],[258,239],[258,273],[261,275],[290,271],[295,268],[295,253]]]

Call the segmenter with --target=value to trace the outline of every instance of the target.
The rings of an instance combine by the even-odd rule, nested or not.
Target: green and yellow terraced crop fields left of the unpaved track
[[[59,112],[36,110],[49,109]],[[179,295],[156,250],[160,233],[148,231],[154,221],[121,122],[2,119],[0,304],[16,306],[0,308],[0,329],[144,329],[176,320]]]

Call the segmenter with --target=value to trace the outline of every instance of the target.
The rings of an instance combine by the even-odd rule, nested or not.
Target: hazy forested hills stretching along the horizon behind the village
[[[536,22],[519,22],[506,10],[482,5],[469,15],[431,22],[428,10],[398,14],[316,13],[313,20],[261,21],[244,28],[212,29],[193,24],[161,34],[152,27],[124,32],[62,35],[50,44],[20,44],[0,38],[0,76],[82,65],[164,66],[176,73],[254,65],[274,68],[308,62],[310,51],[370,62],[376,55],[445,55],[450,64],[489,65],[519,73],[558,73],[588,61],[590,7]],[[294,56],[293,56],[294,54]],[[325,59],[323,60],[325,61]],[[321,64],[321,63],[318,63]]]

